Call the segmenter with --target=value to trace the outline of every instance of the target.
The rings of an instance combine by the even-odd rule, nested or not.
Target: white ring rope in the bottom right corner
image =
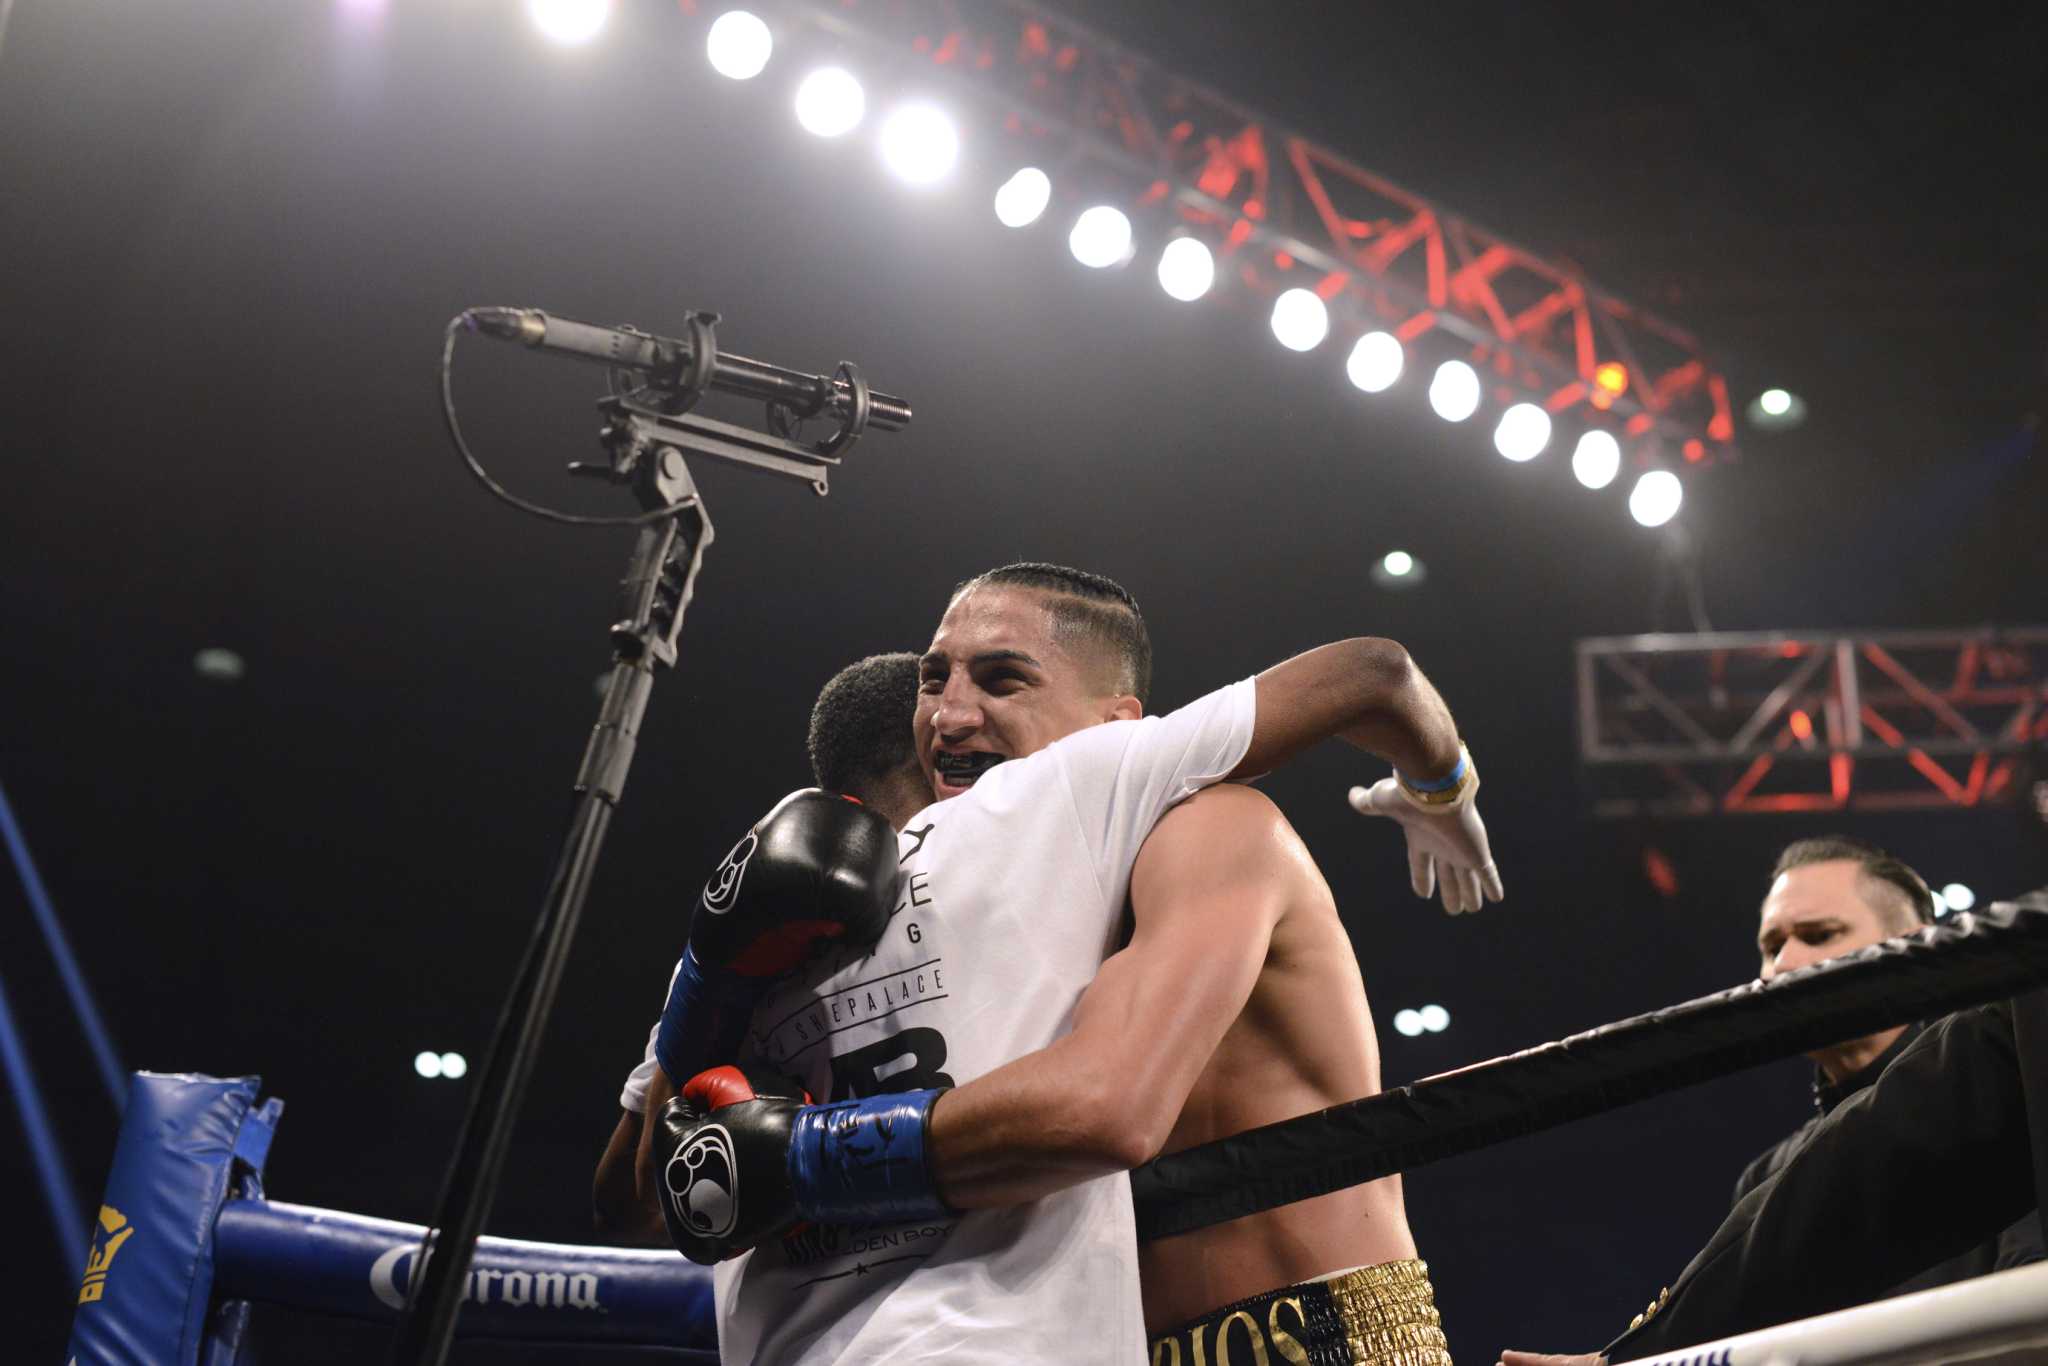
[[[2019,1366],[2048,1358],[2044,1305],[2036,1264],[1614,1366]]]

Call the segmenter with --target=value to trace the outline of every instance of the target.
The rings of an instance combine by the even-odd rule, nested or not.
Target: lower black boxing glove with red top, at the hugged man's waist
[[[711,1067],[682,1083],[655,1130],[662,1223],[676,1251],[713,1266],[797,1225],[788,1143],[809,1100],[793,1079],[754,1067]]]

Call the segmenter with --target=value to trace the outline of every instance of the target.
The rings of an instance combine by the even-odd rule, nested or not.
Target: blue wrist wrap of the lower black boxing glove
[[[952,1219],[938,1198],[926,1122],[940,1092],[805,1106],[788,1141],[788,1184],[805,1219],[893,1225]]]

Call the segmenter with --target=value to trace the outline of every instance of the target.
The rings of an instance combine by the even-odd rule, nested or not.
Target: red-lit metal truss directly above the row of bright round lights
[[[1735,453],[1729,385],[1683,328],[1059,14],[1028,0],[795,12],[938,68],[926,76],[1001,111],[1020,158],[1157,213],[1159,238],[1202,233],[1253,297],[1307,287],[1350,301],[1339,328],[1440,334],[1503,393],[1610,414],[1645,453]]]

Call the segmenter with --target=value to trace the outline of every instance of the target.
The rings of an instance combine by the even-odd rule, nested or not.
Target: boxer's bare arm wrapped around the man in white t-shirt
[[[934,1106],[938,1194],[963,1210],[1016,1204],[1157,1155],[1257,983],[1298,856],[1251,788],[1169,811],[1130,874],[1130,944],[1081,995],[1073,1032]]]

